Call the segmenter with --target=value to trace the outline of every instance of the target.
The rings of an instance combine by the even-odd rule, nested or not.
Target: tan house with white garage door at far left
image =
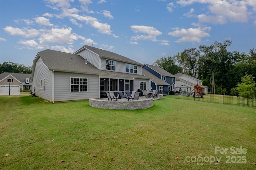
[[[32,90],[32,82],[30,81],[31,74],[3,72],[0,74],[0,92],[20,92],[20,90]]]

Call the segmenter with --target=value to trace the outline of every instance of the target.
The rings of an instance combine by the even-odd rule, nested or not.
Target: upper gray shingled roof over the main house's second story
[[[92,51],[93,53],[96,53],[100,57],[103,57],[103,58],[106,58],[106,59],[113,59],[113,60],[116,60],[116,61],[122,61],[122,62],[125,62],[125,63],[130,63],[130,64],[143,66],[143,64],[138,63],[137,61],[134,61],[134,60],[129,59],[127,57],[124,57],[122,55],[119,55],[119,54],[116,54],[116,53],[113,53],[113,52],[110,52],[110,51],[106,51],[106,50],[103,50],[103,49],[98,49],[96,47],[91,47],[91,46],[88,46],[88,45],[84,45],[78,51],[76,51],[74,54],[79,53],[83,49],[88,49],[88,50]]]

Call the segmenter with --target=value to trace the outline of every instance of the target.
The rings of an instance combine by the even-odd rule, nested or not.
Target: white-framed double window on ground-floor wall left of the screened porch
[[[70,92],[88,92],[88,78],[70,77]]]

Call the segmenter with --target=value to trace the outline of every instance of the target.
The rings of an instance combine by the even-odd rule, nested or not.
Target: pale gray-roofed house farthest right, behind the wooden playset
[[[186,85],[189,86],[188,91],[191,92],[194,89],[194,86],[196,84],[199,84],[203,88],[204,94],[208,93],[208,86],[203,86],[202,85],[202,80],[199,80],[198,78],[194,78],[192,76],[188,76],[186,74],[182,73],[177,73],[174,74],[176,77],[176,87],[181,86],[181,85]],[[176,89],[176,90],[181,90],[182,92],[186,92],[187,88],[181,88],[181,89]]]

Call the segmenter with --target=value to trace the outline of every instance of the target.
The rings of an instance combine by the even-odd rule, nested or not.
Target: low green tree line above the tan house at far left
[[[0,63],[0,73],[3,73],[3,72],[31,74],[32,66],[25,66],[24,64],[5,61],[2,64]]]

